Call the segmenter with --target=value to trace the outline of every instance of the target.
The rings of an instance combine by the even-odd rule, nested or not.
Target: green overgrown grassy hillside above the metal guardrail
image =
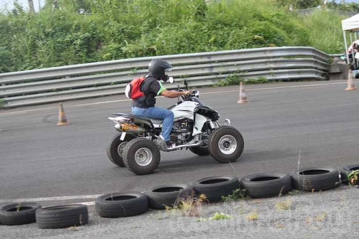
[[[0,73],[130,57],[274,46],[344,51],[341,20],[275,0],[58,0],[0,13]],[[86,14],[79,14],[84,8]]]

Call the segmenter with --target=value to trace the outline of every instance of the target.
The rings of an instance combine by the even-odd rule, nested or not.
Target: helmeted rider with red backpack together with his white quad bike
[[[136,78],[126,87],[132,98],[132,114],[113,113],[109,117],[116,134],[108,143],[107,155],[112,163],[127,167],[135,174],[153,172],[160,161],[162,151],[189,149],[197,155],[210,154],[220,163],[237,160],[244,148],[243,137],[230,127],[230,121],[221,126],[220,115],[204,105],[197,90],[186,91],[166,75],[172,66],[163,59],[149,64],[149,73]],[[177,90],[166,90],[161,82],[173,83]],[[177,97],[178,102],[168,109],[155,107],[155,96]]]

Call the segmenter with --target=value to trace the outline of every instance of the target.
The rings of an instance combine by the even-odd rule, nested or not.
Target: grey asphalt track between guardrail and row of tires
[[[107,117],[130,111],[123,95],[65,102],[67,126],[56,126],[57,104],[2,110],[0,203],[73,195],[79,196],[61,202],[84,202],[93,199],[81,195],[143,191],[211,175],[289,173],[298,166],[300,150],[300,167],[359,163],[359,91],[345,87],[343,81],[250,85],[251,102],[241,105],[238,86],[201,88],[202,101],[220,112],[220,121],[229,118],[243,134],[240,159],[232,167],[190,151],[162,153],[158,169],[142,176],[113,165],[106,155],[116,133]],[[157,105],[174,101],[158,98]],[[48,201],[43,204],[57,204]]]

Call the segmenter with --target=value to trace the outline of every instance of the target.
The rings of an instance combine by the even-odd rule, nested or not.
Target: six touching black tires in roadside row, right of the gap
[[[278,196],[293,188],[304,191],[319,191],[334,188],[338,182],[348,183],[348,174],[358,170],[359,165],[351,165],[340,171],[333,168],[306,168],[293,173],[256,173],[238,180],[234,176],[213,176],[200,178],[191,184],[161,185],[143,193],[110,193],[97,198],[96,212],[102,217],[124,217],[145,213],[150,209],[172,207],[178,198],[204,194],[208,202],[222,200],[222,196],[236,189],[246,189],[249,197]]]

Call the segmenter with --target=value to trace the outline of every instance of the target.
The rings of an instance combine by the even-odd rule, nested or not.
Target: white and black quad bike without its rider
[[[174,83],[172,77],[170,83]],[[178,91],[182,91],[179,86]],[[188,90],[187,82],[185,81]],[[172,147],[164,144],[162,120],[136,116],[127,113],[113,113],[109,117],[116,134],[107,145],[107,155],[111,162],[119,167],[127,167],[135,174],[153,172],[161,158],[159,150],[175,151],[189,149],[197,155],[210,154],[220,163],[236,161],[244,148],[243,137],[237,129],[218,124],[220,115],[212,108],[205,106],[198,98],[200,93],[193,90],[189,95],[178,97],[177,104],[169,107],[174,114],[171,131]]]

